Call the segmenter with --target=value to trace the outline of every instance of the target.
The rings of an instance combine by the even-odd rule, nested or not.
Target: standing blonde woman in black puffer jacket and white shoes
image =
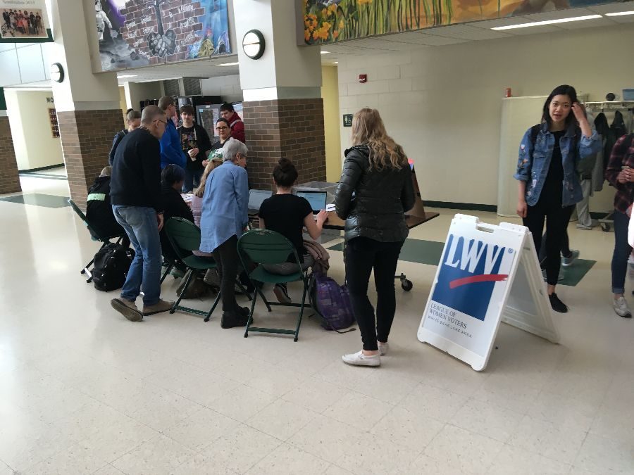
[[[409,233],[405,212],[414,207],[414,184],[405,152],[387,135],[378,110],[361,109],[354,115],[352,144],[345,151],[335,209],[346,220],[346,282],[363,350],[343,355],[342,360],[379,366],[396,311],[394,272]],[[368,299],[373,269],[376,319]]]

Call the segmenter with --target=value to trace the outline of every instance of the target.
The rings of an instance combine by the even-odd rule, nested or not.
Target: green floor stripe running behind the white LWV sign
[[[330,247],[332,251],[343,251],[343,243]],[[424,241],[423,239],[406,239],[399,260],[416,262],[417,264],[438,265],[442,248],[445,243],[437,241]],[[577,259],[570,267],[561,267],[561,275],[564,280],[558,285],[576,286],[588,271],[595,265],[596,260]]]

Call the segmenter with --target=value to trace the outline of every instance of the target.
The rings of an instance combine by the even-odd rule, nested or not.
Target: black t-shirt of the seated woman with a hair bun
[[[297,249],[299,262],[304,262],[304,218],[313,214],[313,208],[306,198],[292,194],[273,195],[260,205],[258,214],[264,220],[266,229],[282,234]],[[289,262],[293,262],[292,255]]]

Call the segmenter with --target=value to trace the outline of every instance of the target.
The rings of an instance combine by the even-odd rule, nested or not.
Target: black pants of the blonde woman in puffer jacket
[[[377,350],[377,339],[387,342],[396,311],[394,272],[396,272],[402,241],[383,243],[366,237],[346,243],[346,283],[352,311],[361,330],[363,350]],[[376,319],[368,298],[370,274],[374,269],[376,286]]]

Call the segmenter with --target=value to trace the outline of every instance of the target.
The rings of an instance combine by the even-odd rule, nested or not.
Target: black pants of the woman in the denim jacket
[[[561,198],[559,200],[547,198],[549,197],[540,196],[540,200],[534,206],[527,207],[523,223],[533,234],[535,251],[539,256],[542,247],[544,220],[546,220],[546,281],[549,285],[557,285],[557,277],[559,277],[559,268],[561,267],[561,248],[567,240],[566,230],[575,207],[571,205],[562,208]]]

